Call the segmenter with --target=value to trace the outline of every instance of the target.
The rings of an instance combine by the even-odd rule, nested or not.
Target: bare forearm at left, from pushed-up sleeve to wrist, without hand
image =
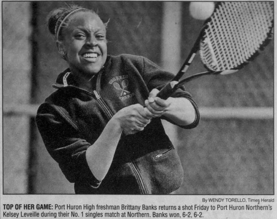
[[[119,123],[111,119],[96,142],[87,149],[87,163],[96,179],[102,180],[107,174],[121,133],[122,128]]]

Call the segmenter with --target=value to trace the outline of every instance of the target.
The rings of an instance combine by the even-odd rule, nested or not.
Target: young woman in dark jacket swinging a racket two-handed
[[[169,194],[182,183],[179,157],[161,119],[183,128],[199,122],[188,92],[156,97],[173,78],[148,59],[107,55],[106,24],[92,10],[50,13],[48,29],[69,68],[38,109],[50,155],[77,194]],[[150,91],[150,92],[149,92]]]

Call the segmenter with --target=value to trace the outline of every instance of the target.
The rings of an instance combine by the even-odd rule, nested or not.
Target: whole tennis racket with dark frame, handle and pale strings
[[[192,78],[238,71],[267,45],[272,37],[273,21],[273,1],[218,3],[213,14],[205,21],[181,69],[157,96],[167,99],[180,85]],[[180,80],[197,51],[208,71]]]

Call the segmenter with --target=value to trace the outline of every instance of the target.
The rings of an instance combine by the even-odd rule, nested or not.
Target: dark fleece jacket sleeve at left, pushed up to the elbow
[[[97,188],[101,181],[93,176],[86,160],[86,150],[91,144],[80,137],[78,128],[62,116],[57,106],[48,103],[39,107],[35,121],[47,151],[68,181],[85,181]]]

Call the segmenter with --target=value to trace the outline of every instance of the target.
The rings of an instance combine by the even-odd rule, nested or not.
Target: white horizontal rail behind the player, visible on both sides
[[[34,117],[39,104],[3,104],[3,115]],[[273,107],[199,107],[202,119],[273,119]]]

